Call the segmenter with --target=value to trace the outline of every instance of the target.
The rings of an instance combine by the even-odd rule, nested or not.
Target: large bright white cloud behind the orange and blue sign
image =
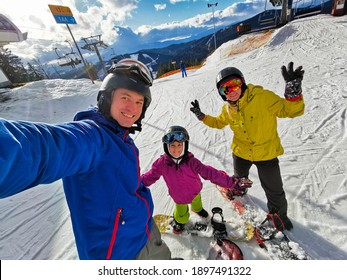
[[[115,24],[121,25],[126,19],[131,18],[138,4],[137,0],[77,2],[77,0],[11,0],[11,4],[1,7],[1,13],[13,21],[22,32],[28,32],[28,39],[26,42],[6,47],[21,58],[30,60],[38,53],[41,56],[42,51],[47,48],[54,52],[53,46],[60,45],[63,48],[65,40],[72,41],[66,25],[55,22],[48,4],[67,6],[71,9],[77,24],[69,24],[69,27],[77,41],[102,34],[105,43],[114,42],[117,39]],[[83,12],[77,10],[77,4],[83,4]]]

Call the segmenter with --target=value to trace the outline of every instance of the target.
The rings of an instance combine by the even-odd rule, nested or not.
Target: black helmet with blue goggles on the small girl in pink
[[[162,138],[164,151],[171,158],[173,156],[169,152],[168,145],[175,141],[184,142],[184,153],[180,158],[185,157],[188,154],[189,134],[184,127],[179,125],[170,126]]]

